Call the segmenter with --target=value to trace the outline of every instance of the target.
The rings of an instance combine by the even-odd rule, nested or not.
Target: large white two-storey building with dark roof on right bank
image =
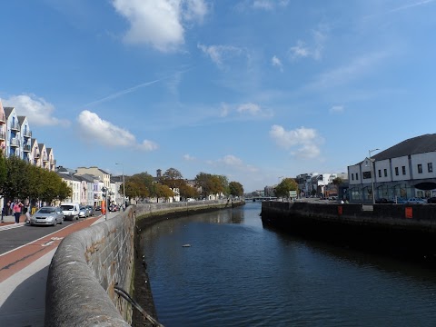
[[[436,196],[436,134],[391,146],[348,166],[351,202]]]

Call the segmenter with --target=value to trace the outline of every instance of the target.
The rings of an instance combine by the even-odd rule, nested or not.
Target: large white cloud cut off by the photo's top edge
[[[202,21],[203,0],[113,0],[115,10],[130,24],[124,41],[149,44],[159,51],[174,51],[184,43],[185,21]]]

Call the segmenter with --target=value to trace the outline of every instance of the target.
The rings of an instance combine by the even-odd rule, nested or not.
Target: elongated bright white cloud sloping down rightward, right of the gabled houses
[[[97,114],[84,110],[77,117],[81,135],[93,143],[108,146],[136,146],[140,150],[153,151],[157,144],[144,140],[142,144],[136,144],[134,134],[114,124],[101,119]]]

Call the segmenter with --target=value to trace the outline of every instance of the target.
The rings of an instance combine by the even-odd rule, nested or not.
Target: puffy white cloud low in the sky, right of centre
[[[321,153],[319,144],[322,139],[316,130],[300,127],[292,131],[286,131],[282,126],[274,124],[270,130],[270,136],[276,144],[285,149],[298,147],[292,154],[302,158],[315,158]]]

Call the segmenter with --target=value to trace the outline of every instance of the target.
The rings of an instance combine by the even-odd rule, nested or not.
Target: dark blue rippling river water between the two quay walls
[[[434,269],[277,233],[260,213],[247,203],[144,232],[159,322],[436,326]]]

